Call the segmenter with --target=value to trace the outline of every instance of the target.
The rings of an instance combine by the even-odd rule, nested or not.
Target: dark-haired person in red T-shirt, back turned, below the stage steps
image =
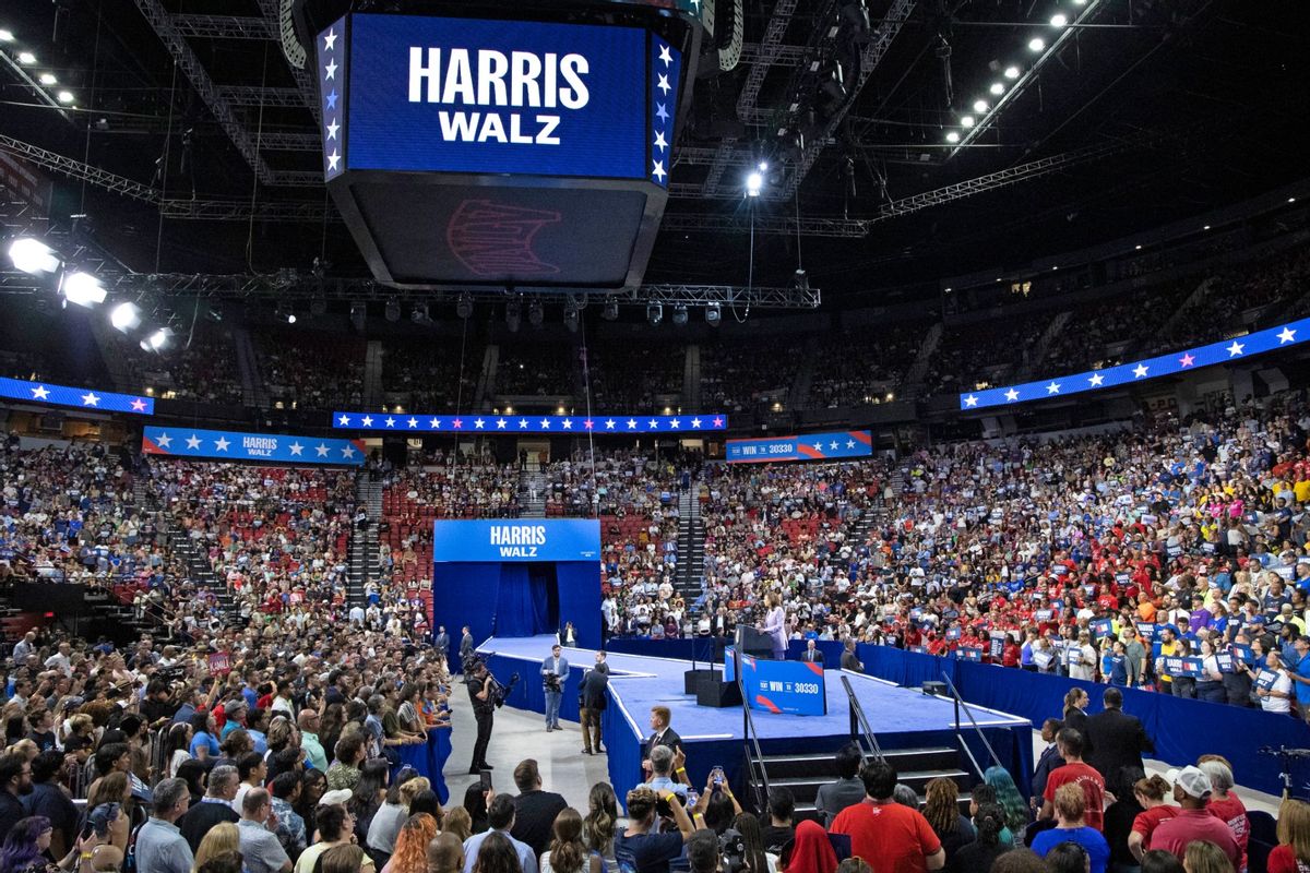
[[[852,855],[865,859],[874,873],[927,873],[946,865],[946,849],[917,809],[892,800],[896,771],[875,760],[861,771],[865,800],[848,806],[828,830],[850,836]]]

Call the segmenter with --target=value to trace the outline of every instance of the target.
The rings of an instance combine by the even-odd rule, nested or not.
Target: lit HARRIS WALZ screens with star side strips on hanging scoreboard
[[[316,48],[350,170],[646,179],[658,105],[672,123],[680,58],[665,45],[662,82],[635,27],[356,13],[348,52],[342,30]]]

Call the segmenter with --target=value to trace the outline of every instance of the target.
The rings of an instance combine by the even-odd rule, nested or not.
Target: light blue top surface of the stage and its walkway
[[[554,641],[554,636],[491,637],[478,649],[504,658],[531,661],[521,670],[523,679],[536,682],[541,660],[550,654]],[[565,657],[571,668],[591,666],[595,662],[595,649],[567,648]],[[694,698],[683,694],[683,673],[690,668],[690,661],[617,653],[610,653],[607,661],[610,668],[610,691],[638,737],[650,733],[650,708],[665,705],[672,712],[673,729],[685,741],[743,738],[741,707],[702,707]],[[955,730],[955,703],[950,698],[934,698],[886,679],[829,669],[825,674],[828,713],[793,716],[753,709],[755,729],[760,739],[849,737],[850,707],[840,675],[850,677],[855,698],[880,742],[895,734]],[[982,707],[969,707],[969,711],[980,728],[1013,728],[1023,730],[1024,737],[1031,730],[1027,719]],[[963,717],[963,729],[971,730],[968,717]]]

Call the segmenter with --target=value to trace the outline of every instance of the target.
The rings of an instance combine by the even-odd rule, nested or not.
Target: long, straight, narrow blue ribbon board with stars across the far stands
[[[403,433],[700,433],[723,431],[722,412],[694,415],[419,415],[417,412],[333,412],[338,431]]]

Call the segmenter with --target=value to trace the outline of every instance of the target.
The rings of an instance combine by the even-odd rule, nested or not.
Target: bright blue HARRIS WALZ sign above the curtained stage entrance
[[[435,563],[595,561],[600,560],[597,518],[495,518],[438,521]]]

